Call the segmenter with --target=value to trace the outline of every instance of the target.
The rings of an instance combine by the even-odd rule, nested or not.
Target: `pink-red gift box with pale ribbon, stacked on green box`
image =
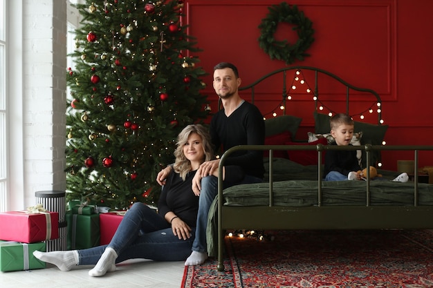
[[[59,213],[0,213],[0,239],[35,243],[59,238]]]

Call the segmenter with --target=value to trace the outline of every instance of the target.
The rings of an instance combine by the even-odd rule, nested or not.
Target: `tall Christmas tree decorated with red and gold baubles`
[[[174,162],[178,133],[210,108],[183,1],[93,0],[75,6],[75,68],[68,68],[68,200],[112,209],[156,204],[156,175]]]

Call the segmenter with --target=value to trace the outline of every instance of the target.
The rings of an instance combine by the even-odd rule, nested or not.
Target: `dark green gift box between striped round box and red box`
[[[68,222],[66,249],[86,249],[99,246],[99,214],[79,215],[66,211],[66,222]]]

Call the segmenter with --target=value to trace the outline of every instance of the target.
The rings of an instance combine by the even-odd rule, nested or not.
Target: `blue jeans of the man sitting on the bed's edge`
[[[223,184],[223,188],[228,188],[237,184],[260,183],[260,178],[246,175],[239,183]],[[206,227],[208,227],[208,213],[210,205],[218,194],[218,178],[206,176],[201,179],[201,191],[199,197],[199,212],[197,213],[196,238],[192,243],[192,251],[205,253],[208,251],[206,245]]]

